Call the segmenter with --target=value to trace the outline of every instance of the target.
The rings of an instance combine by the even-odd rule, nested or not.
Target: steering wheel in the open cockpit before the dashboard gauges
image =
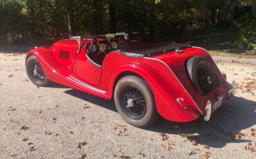
[[[107,44],[102,43],[102,41],[98,41],[98,39],[104,39],[103,41],[107,41]],[[101,42],[101,44],[100,44]],[[89,51],[93,54],[100,55],[100,53],[106,54],[106,51],[111,49],[111,41],[107,39],[105,36],[97,36],[94,37],[89,45]]]

